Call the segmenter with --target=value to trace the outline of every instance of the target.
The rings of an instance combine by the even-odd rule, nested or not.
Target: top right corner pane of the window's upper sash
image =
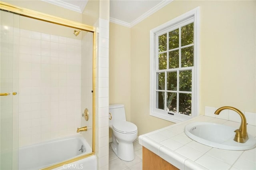
[[[181,28],[181,46],[194,43],[194,23]]]

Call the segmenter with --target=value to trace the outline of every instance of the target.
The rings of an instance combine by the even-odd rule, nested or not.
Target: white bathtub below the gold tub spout
[[[42,169],[91,152],[91,147],[81,134],[40,142],[19,148],[19,170]],[[96,156],[90,157],[65,164],[56,170],[96,170]]]

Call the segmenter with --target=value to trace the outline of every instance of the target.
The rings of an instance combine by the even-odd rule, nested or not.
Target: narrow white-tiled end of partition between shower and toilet
[[[109,20],[100,18],[97,29],[96,56],[96,155],[98,169],[108,170],[108,72],[109,72]]]

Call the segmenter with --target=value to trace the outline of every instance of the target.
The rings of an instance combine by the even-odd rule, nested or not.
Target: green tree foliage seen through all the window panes
[[[179,30],[181,31],[180,33]],[[179,42],[181,43],[179,44]],[[180,29],[178,28],[176,30],[172,30],[171,32],[169,32],[169,34],[163,34],[161,36],[158,36],[158,70],[194,66],[194,45],[191,45],[193,43],[194,23],[183,26]],[[185,45],[188,46],[184,47]],[[179,54],[179,48],[181,54]],[[179,55],[181,56],[180,65]],[[177,75],[179,77],[179,87],[177,87]],[[167,71],[167,89],[165,89],[165,73],[158,73],[157,77],[158,90],[180,91],[180,93],[178,94],[174,92],[165,93],[164,91],[158,91],[158,109],[163,109],[177,113],[178,104],[180,114],[191,115],[192,95],[191,93],[186,92],[192,91],[192,70],[190,69],[182,71]],[[177,95],[179,95],[178,101]],[[165,98],[167,106],[166,109],[164,109]]]

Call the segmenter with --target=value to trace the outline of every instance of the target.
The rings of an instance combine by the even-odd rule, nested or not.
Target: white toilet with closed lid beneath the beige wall
[[[135,158],[133,141],[137,138],[136,125],[126,121],[124,105],[109,106],[109,127],[113,130],[111,148],[118,158],[132,161]]]

